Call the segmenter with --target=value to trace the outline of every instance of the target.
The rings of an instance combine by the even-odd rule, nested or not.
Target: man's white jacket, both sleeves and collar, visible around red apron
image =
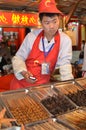
[[[25,60],[27,59],[35,39],[42,29],[33,30],[28,33],[21,44],[16,55],[12,59],[13,70],[16,78],[18,80],[23,79],[24,77],[20,74],[21,71],[27,71]],[[60,33],[60,49],[59,55],[57,57],[57,62],[55,68],[60,69],[61,80],[69,80],[73,78],[71,60],[72,60],[72,42],[67,34],[64,32]],[[46,37],[44,37],[44,46],[45,51],[48,51],[52,44],[54,44],[54,38],[48,43]],[[43,51],[42,38],[40,39],[39,49]],[[36,55],[36,54],[34,54]],[[53,55],[53,54],[52,54]]]

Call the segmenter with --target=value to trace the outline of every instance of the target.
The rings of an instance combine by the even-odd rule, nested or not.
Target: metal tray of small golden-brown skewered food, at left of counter
[[[51,117],[29,90],[3,93],[0,98],[9,116],[17,120],[17,125],[38,123]]]

